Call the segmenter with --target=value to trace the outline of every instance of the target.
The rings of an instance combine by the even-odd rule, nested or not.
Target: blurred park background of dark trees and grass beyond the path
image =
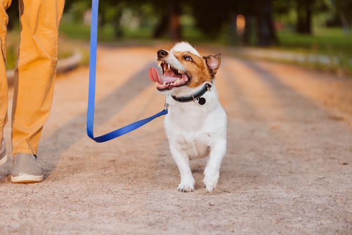
[[[66,1],[59,58],[78,48],[82,64],[89,62],[91,4],[91,0]],[[99,42],[186,40],[229,47],[241,56],[352,74],[352,0],[104,0],[99,11]],[[11,69],[20,41],[18,1],[7,12]]]

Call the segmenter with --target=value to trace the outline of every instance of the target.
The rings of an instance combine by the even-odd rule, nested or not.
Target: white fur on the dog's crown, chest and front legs
[[[199,55],[196,49],[185,42],[176,44],[172,50],[189,50]],[[174,57],[172,53],[170,56]],[[181,183],[178,187],[181,192],[195,190],[189,160],[204,157],[209,159],[204,170],[203,182],[206,191],[212,191],[217,185],[221,162],[226,152],[226,113],[220,105],[215,84],[212,85],[210,92],[202,96],[206,99],[204,105],[192,101],[181,103],[170,97],[170,94],[191,95],[202,89],[204,84],[198,88],[191,89],[184,86],[164,92],[169,103],[168,114],[164,120],[165,132],[172,158],[181,174]]]

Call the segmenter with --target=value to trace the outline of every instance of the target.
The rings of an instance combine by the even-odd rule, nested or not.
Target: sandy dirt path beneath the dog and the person
[[[148,79],[161,47],[99,48],[95,135],[163,108]],[[198,49],[222,53],[228,147],[214,192],[203,159],[191,163],[196,191],[177,191],[162,117],[90,140],[81,67],[57,77],[38,154],[44,181],[13,184],[11,161],[0,168],[0,233],[352,234],[352,78]]]

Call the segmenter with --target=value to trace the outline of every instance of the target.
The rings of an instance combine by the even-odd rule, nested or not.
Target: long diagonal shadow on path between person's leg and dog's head
[[[148,71],[148,68],[152,65],[153,63],[146,65],[128,79],[124,85],[111,92],[102,100],[96,102],[95,129],[99,128],[99,126],[103,125],[112,116],[122,110],[130,100],[138,96],[140,92],[150,85],[148,79],[141,79],[141,77],[145,77],[146,71]],[[129,116],[129,118],[132,122],[138,119],[139,116],[141,116],[140,113],[137,114],[136,117]],[[43,156],[43,161],[48,165],[45,166],[47,169],[45,175],[50,175],[56,169],[61,154],[78,140],[85,137],[87,141],[93,141],[86,135],[85,123],[86,113],[83,113],[57,129],[50,137],[42,139],[40,148],[42,151],[41,155]],[[112,127],[110,131],[113,131],[113,128],[120,127],[121,126]],[[70,133],[70,135],[67,133]],[[50,161],[48,160],[49,158]]]

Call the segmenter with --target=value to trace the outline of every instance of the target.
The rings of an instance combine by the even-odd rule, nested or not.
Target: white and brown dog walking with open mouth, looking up
[[[181,175],[178,190],[195,190],[189,161],[208,156],[203,182],[211,192],[218,183],[227,144],[227,117],[214,84],[221,55],[201,57],[188,42],[179,42],[170,51],[158,50],[156,62],[161,74],[151,67],[149,79],[166,96],[164,128]]]

